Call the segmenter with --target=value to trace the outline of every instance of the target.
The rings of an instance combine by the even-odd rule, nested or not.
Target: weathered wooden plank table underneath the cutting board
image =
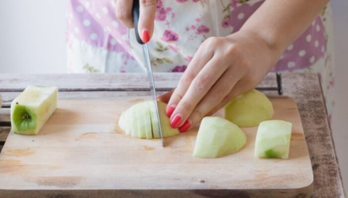
[[[157,75],[157,74],[156,74]],[[162,74],[159,74],[162,75]],[[129,79],[128,77],[134,78]],[[24,78],[23,78],[24,77]],[[160,84],[168,84],[174,88],[180,74],[169,74],[161,78]],[[325,103],[319,83],[318,76],[310,73],[283,73],[283,88],[284,95],[294,98],[298,104],[300,116],[302,119],[305,137],[311,156],[314,183],[313,183],[313,198],[345,198],[345,190],[342,184],[340,173],[340,165],[336,155],[335,144],[332,138],[332,132],[327,119]],[[70,78],[73,80],[65,81]],[[57,79],[63,79],[57,81]],[[123,89],[121,91],[110,91],[115,89],[114,81],[132,81],[133,89]],[[89,83],[88,81],[92,82]],[[94,83],[94,84],[93,84]],[[120,96],[137,96],[139,93],[149,95],[150,92],[139,91],[136,86],[139,84],[146,85],[148,83],[143,74],[100,74],[100,75],[70,75],[70,74],[55,74],[55,75],[21,75],[21,74],[0,74],[0,94],[5,102],[4,109],[8,108],[9,102],[15,98],[19,91],[29,84],[52,84],[61,85],[60,88],[66,88],[68,91],[60,92],[60,98],[113,98]],[[87,86],[87,85],[88,86]],[[14,85],[13,87],[11,85]],[[268,74],[259,85],[260,87],[274,87],[276,85],[275,75]],[[94,87],[100,91],[90,91],[90,87]],[[145,87],[145,86],[144,86]],[[5,89],[2,89],[5,88]],[[146,94],[147,93],[147,94]],[[276,95],[277,93],[265,92],[268,95]],[[145,96],[143,95],[143,96]],[[3,111],[4,116],[1,117],[0,111],[0,145],[4,143],[7,134],[9,133],[10,123],[9,114]],[[9,112],[9,111],[8,111]],[[6,120],[2,120],[5,118]],[[93,144],[93,143],[91,143]],[[264,190],[239,190],[234,193],[228,190],[197,190],[195,191],[200,197],[263,197],[268,198],[272,194],[271,189]],[[179,190],[176,191],[176,197],[186,198],[191,195],[191,191]],[[112,190],[54,190],[54,191],[1,191],[1,196],[11,198],[123,198],[123,197],[142,197],[142,198],[163,198],[168,197],[165,190],[147,190],[142,191],[122,191],[115,192]],[[280,196],[279,196],[280,197]],[[298,197],[301,197],[299,195]],[[2,198],[2,197],[1,197]]]

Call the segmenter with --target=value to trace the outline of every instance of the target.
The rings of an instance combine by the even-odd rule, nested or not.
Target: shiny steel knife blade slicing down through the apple
[[[159,126],[159,132],[160,132],[162,147],[164,147],[163,136],[162,136],[162,127],[161,127],[161,118],[160,118],[160,113],[159,113],[158,104],[157,104],[155,81],[154,81],[154,75],[153,75],[153,72],[152,72],[151,61],[150,61],[150,54],[149,54],[149,49],[148,49],[148,44],[147,43],[145,43],[143,45],[143,52],[144,52],[144,57],[145,57],[145,63],[146,63],[146,69],[147,69],[147,73],[148,73],[148,78],[149,78],[149,82],[150,82],[150,90],[152,92],[153,100],[154,100],[155,107],[156,107],[156,113],[157,113],[157,119],[158,119],[158,123],[159,123],[158,126]]]

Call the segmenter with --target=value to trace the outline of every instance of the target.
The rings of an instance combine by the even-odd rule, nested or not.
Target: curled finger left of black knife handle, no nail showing
[[[116,17],[128,28],[134,28],[132,6],[133,0],[116,1]]]

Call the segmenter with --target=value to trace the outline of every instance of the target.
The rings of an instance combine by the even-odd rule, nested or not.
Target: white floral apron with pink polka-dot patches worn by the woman
[[[155,72],[183,72],[200,44],[239,31],[263,0],[158,0],[148,43]],[[114,14],[114,0],[69,0],[68,72],[145,72],[141,46]],[[279,58],[272,72],[317,73],[329,120],[334,107],[334,41],[330,5]]]

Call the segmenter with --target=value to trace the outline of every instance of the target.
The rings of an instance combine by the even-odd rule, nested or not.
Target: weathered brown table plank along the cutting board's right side
[[[297,101],[314,172],[314,198],[345,198],[325,103],[315,74],[287,74],[284,95]]]

